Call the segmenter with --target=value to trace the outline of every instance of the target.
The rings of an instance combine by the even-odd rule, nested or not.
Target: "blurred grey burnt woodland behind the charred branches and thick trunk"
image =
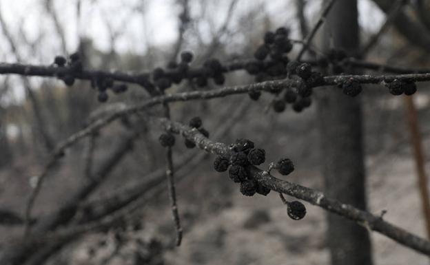
[[[177,55],[175,49],[191,50],[194,65],[211,57],[249,58],[267,30],[284,26],[291,39],[303,39],[298,2],[304,3],[303,14],[311,27],[323,1],[0,0],[0,61],[50,65],[56,55],[79,51],[85,68],[139,73],[165,67]],[[358,0],[361,43],[387,20],[381,6],[389,3],[379,2],[384,3]],[[405,14],[420,21],[415,2],[424,2],[426,8],[430,2],[411,2]],[[363,59],[429,67],[428,50],[416,44],[389,26]],[[292,56],[300,47],[294,46]],[[252,82],[246,72],[237,71],[227,75],[226,85]],[[414,96],[424,151],[430,145],[426,86],[420,84]],[[209,83],[207,89],[214,87]],[[169,92],[186,90],[182,83]],[[360,95],[369,211],[387,211],[385,220],[425,237],[405,104],[385,90],[367,85]],[[22,235],[25,203],[54,146],[81,129],[90,114],[139,103],[147,94],[130,86],[129,92],[111,96],[104,105],[96,97],[86,81],[65,87],[55,78],[0,76],[0,253]],[[287,180],[324,190],[324,154],[319,148],[324,139],[316,106],[300,114],[289,107],[278,114],[268,109],[272,99],[263,94],[254,102],[238,95],[174,103],[172,119],[187,123],[201,116],[210,138],[227,144],[249,138],[266,150],[263,168],[280,157],[290,158],[296,171]],[[161,114],[161,108],[148,114]],[[25,264],[330,264],[323,210],[306,204],[305,219],[294,221],[274,192],[244,197],[227,173],[212,169],[214,156],[186,149],[179,137],[174,162],[184,239],[174,247],[165,155],[158,143],[161,132],[141,115],[115,122],[68,149],[43,184],[32,222],[56,213],[93,181],[96,187],[80,199],[76,216],[59,227],[85,224],[91,221],[88,216],[97,217],[99,212],[107,215],[130,205],[136,209],[60,246],[51,242]],[[424,162],[428,169],[429,160]],[[112,209],[105,210],[106,205]],[[371,240],[374,264],[428,264],[427,257],[386,237],[371,233]]]

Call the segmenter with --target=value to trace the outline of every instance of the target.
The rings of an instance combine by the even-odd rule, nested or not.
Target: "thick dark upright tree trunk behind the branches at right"
[[[336,1],[323,35],[325,50],[342,48],[347,54],[357,55],[360,41],[356,0]],[[360,96],[351,98],[337,87],[325,87],[318,97],[325,192],[330,198],[365,210]],[[365,228],[331,213],[327,220],[331,264],[372,264],[371,242]]]

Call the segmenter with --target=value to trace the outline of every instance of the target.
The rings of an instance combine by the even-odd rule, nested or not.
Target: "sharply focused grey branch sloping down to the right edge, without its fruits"
[[[174,123],[165,118],[160,119],[161,125],[165,129],[178,134],[182,134],[185,138],[196,142],[198,148],[209,153],[214,153],[218,156],[228,156],[231,149],[221,142],[213,142],[205,138],[197,129],[191,129],[181,123]],[[252,176],[264,187],[285,193],[300,200],[305,200],[311,204],[319,206],[331,213],[336,213],[344,218],[356,222],[367,229],[377,231],[392,240],[418,251],[419,253],[430,255],[430,242],[422,237],[413,235],[401,229],[398,226],[390,224],[383,220],[380,216],[373,215],[367,211],[362,211],[349,204],[343,204],[336,200],[327,198],[324,193],[315,191],[299,184],[294,184],[286,180],[280,180],[270,175],[268,171],[263,171],[257,167],[251,167]]]

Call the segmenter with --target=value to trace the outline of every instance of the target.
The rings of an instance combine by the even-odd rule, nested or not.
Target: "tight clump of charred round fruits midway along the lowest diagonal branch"
[[[254,148],[254,142],[247,139],[238,139],[231,146],[229,157],[218,156],[214,161],[214,169],[224,172],[229,169],[229,177],[240,183],[240,193],[252,196],[255,193],[267,195],[270,189],[259,184],[249,172],[252,165],[261,165],[265,162],[265,150]]]

